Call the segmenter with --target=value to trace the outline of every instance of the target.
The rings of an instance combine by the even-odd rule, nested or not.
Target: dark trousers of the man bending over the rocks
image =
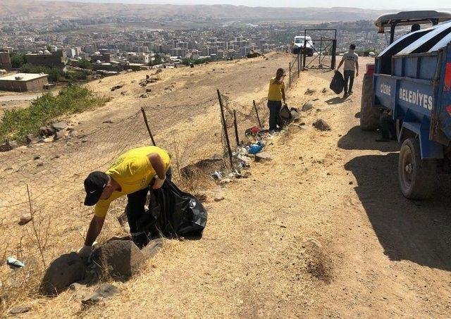
[[[166,172],[166,178],[172,179],[171,168]],[[128,203],[125,208],[128,225],[132,241],[140,248],[147,245],[150,237],[156,234],[155,220],[152,216],[152,209],[146,212],[144,205],[147,201],[147,194],[150,192],[150,185],[144,189],[127,195]],[[150,206],[150,203],[149,203]]]

